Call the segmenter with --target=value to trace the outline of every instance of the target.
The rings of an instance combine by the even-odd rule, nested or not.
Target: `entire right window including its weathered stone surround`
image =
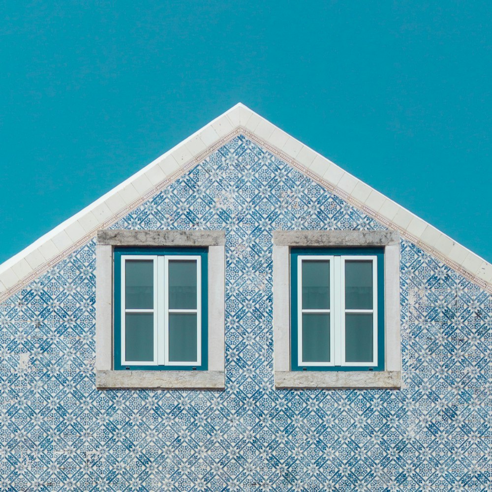
[[[399,388],[399,235],[276,231],[277,388]]]

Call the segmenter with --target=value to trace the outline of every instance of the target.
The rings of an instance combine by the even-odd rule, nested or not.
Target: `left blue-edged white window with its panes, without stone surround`
[[[207,370],[207,248],[115,248],[114,258],[114,368]]]

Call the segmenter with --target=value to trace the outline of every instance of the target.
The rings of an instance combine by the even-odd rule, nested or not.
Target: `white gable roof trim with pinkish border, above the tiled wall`
[[[490,263],[239,103],[2,263],[0,301],[87,243],[98,229],[109,227],[239,134],[492,291]]]

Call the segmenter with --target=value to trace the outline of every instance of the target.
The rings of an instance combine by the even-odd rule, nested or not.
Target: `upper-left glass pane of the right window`
[[[330,262],[303,260],[303,309],[330,309]]]

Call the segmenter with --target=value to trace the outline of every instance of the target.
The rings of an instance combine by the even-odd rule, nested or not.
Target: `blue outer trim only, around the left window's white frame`
[[[127,254],[201,256],[202,277],[202,364],[200,366],[122,366],[121,364],[121,257]],[[208,248],[206,247],[115,247],[114,250],[114,370],[208,370]]]

